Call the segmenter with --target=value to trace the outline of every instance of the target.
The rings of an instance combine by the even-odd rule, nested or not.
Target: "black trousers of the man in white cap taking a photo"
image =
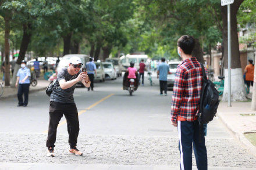
[[[67,132],[69,133],[70,148],[76,146],[79,134],[79,119],[76,104],[51,101],[49,108],[49,129],[46,142],[47,147],[55,147],[54,143],[56,141],[57,127],[63,114],[67,120]]]

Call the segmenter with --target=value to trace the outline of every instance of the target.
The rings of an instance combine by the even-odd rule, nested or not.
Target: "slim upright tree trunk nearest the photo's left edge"
[[[5,15],[5,86],[10,85],[10,18]]]

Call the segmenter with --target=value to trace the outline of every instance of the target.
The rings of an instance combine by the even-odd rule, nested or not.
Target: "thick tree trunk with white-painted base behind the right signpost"
[[[236,14],[243,0],[234,1],[230,5],[230,41],[231,41],[231,81],[236,82],[231,84],[231,100],[235,101],[245,101],[246,99],[246,89],[243,81],[243,72],[241,70],[240,62],[240,51],[239,51],[239,41],[237,35],[237,19]],[[228,70],[227,70],[227,6],[221,7],[221,14],[223,20],[223,62],[225,67],[225,86],[222,101],[227,102],[228,100]]]

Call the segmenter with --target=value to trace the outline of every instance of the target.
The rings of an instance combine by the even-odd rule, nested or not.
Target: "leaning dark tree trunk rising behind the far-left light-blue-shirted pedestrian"
[[[31,23],[23,24],[22,43],[20,44],[20,52],[19,52],[19,56],[18,56],[16,65],[15,65],[14,72],[13,72],[12,83],[10,85],[12,87],[15,87],[17,71],[19,70],[20,64],[22,63],[22,60],[24,60],[24,57],[26,55],[27,47],[29,46],[30,39],[32,36],[31,31],[32,31]]]

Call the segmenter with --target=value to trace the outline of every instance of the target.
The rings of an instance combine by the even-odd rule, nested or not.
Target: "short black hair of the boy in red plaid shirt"
[[[177,41],[177,46],[182,48],[185,54],[191,55],[195,46],[195,39],[190,35],[182,35]]]

